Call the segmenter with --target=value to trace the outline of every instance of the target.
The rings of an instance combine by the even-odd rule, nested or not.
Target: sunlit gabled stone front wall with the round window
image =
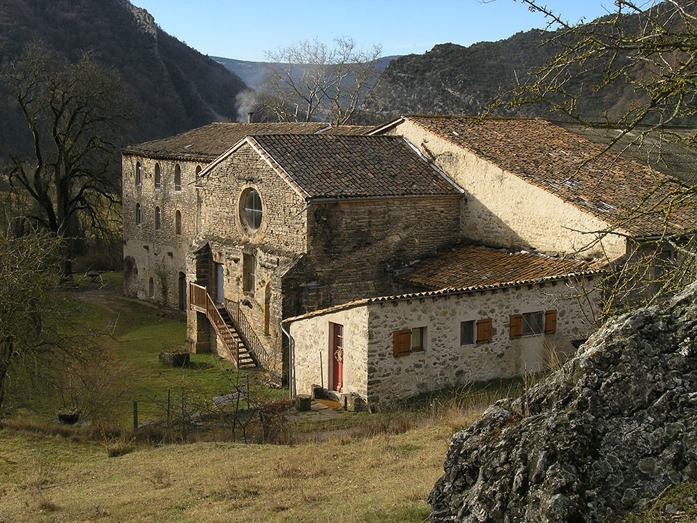
[[[287,365],[279,326],[283,317],[282,279],[306,249],[305,202],[248,145],[213,169],[198,186],[201,234],[196,241],[210,245],[210,259],[206,260],[206,280],[200,281],[196,257],[192,256],[189,278],[206,285],[215,298],[215,264],[223,266],[224,298],[240,304],[270,354],[270,370],[280,375]],[[256,231],[245,225],[242,211],[243,195],[250,188],[259,193],[263,211]],[[245,255],[256,257],[254,288],[248,290],[244,288]],[[196,332],[196,328],[190,329],[190,336]],[[196,340],[190,344],[200,347]],[[213,346],[224,356],[220,340]]]

